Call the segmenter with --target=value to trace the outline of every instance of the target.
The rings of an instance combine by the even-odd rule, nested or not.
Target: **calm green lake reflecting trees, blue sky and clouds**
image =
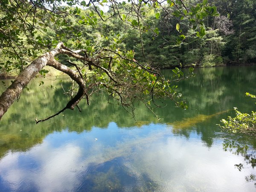
[[[171,70],[163,70],[168,78]],[[1,192],[251,192],[256,175],[246,155],[256,140],[227,134],[216,125],[234,116],[233,107],[250,113],[256,94],[256,66],[195,69],[177,84],[189,109],[154,112],[138,105],[135,119],[104,93],[82,112],[61,110],[67,103],[67,77],[37,78],[23,90],[0,121]],[[40,81],[44,84],[39,86]],[[10,81],[5,81],[10,84]],[[0,85],[0,93],[5,87]],[[247,154],[225,144],[248,145]],[[226,145],[227,146],[227,145]],[[237,146],[237,145],[236,145]]]

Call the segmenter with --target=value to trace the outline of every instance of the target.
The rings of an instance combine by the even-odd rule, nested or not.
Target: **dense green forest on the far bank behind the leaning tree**
[[[179,12],[179,7],[173,3],[167,4],[172,8],[172,12],[166,12],[168,6],[157,2],[153,4],[154,9],[151,9],[149,3],[142,4],[140,23],[136,19],[136,12],[129,17],[127,14],[122,14],[133,10],[132,2],[129,1],[115,4],[116,9],[109,6],[105,12],[96,5],[86,8],[82,4],[78,7],[77,4],[71,3],[69,5],[73,8],[67,10],[71,14],[61,15],[64,17],[63,20],[49,21],[47,17],[42,17],[41,21],[33,24],[30,22],[32,26],[26,26],[34,28],[33,38],[36,44],[40,45],[40,50],[36,47],[31,49],[31,45],[27,46],[30,48],[28,49],[25,42],[21,43],[22,46],[13,42],[10,46],[12,50],[0,51],[2,76],[8,72],[16,74],[17,69],[23,69],[28,64],[27,61],[36,58],[59,41],[63,41],[69,47],[86,47],[88,50],[108,46],[132,50],[137,61],[160,68],[180,65],[186,67],[192,64],[198,67],[213,67],[255,63],[256,2],[253,0],[204,2],[212,6],[213,10],[210,11],[217,10],[218,14],[215,16],[196,14],[195,17],[201,19],[201,28],[195,20],[187,17],[186,9]],[[187,3],[195,5],[201,1],[190,0]],[[194,6],[192,9],[197,7]],[[27,20],[29,19],[31,20],[28,17]],[[26,40],[26,34],[21,34],[19,27],[13,24],[13,35]],[[199,30],[195,31],[198,27]],[[3,41],[3,33],[0,33],[0,37]],[[27,41],[31,40],[27,39]],[[18,48],[13,48],[15,46]],[[60,57],[60,59],[65,62],[65,58]],[[13,72],[15,70],[16,72]]]

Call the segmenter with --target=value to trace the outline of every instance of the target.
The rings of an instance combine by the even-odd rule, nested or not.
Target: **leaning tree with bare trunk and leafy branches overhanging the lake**
[[[17,65],[20,68],[23,66],[23,63],[24,66],[26,66],[26,58],[35,58],[38,52],[44,51],[46,48],[49,49],[54,45],[57,41],[56,39],[61,41],[63,34],[65,34],[64,28],[66,28],[67,34],[72,31],[70,33],[70,38],[72,38],[72,44],[70,44],[70,46],[79,47],[81,49],[71,50],[65,47],[63,43],[59,43],[55,49],[44,53],[32,61],[0,96],[0,119],[15,99],[19,98],[23,88],[26,87],[29,81],[46,65],[52,66],[69,75],[71,79],[76,81],[79,88],[72,90],[71,93],[76,93],[76,95],[73,97],[72,94],[70,101],[63,109],[46,119],[37,121],[37,123],[50,119],[66,109],[73,110],[83,98],[87,99],[87,104],[89,105],[89,96],[99,90],[107,91],[114,99],[117,99],[125,109],[131,108],[132,111],[134,110],[134,103],[137,101],[141,101],[146,105],[149,101],[153,101],[152,103],[156,105],[154,100],[159,98],[172,99],[177,105],[186,108],[183,102],[176,101],[176,99],[179,99],[179,96],[177,96],[176,88],[173,88],[174,86],[170,84],[171,82],[166,81],[164,77],[161,76],[159,70],[150,67],[148,64],[140,64],[136,61],[134,59],[134,52],[121,52],[118,46],[116,46],[119,44],[117,43],[119,41],[115,40],[115,43],[109,44],[108,47],[105,47],[107,49],[104,49],[97,44],[97,46],[91,46],[90,39],[88,39],[85,43],[87,50],[82,49],[83,46],[85,47],[85,44],[83,40],[79,39],[81,37],[81,31],[74,30],[71,24],[72,22],[69,22],[68,17],[71,16],[72,19],[75,19],[76,23],[80,23],[81,25],[93,25],[96,23],[97,18],[93,18],[93,13],[90,13],[90,16],[80,15],[80,8],[72,8],[72,6],[78,2],[77,0],[69,0],[67,2],[69,6],[65,7],[61,6],[61,2],[49,0],[9,0],[1,4],[0,10],[3,12],[3,17],[2,15],[0,16],[0,25],[2,26],[0,29],[0,49],[3,49],[3,52],[5,52],[9,58],[15,61],[20,59],[20,64]],[[165,0],[163,2],[165,2]],[[186,8],[187,2],[185,1],[167,1],[166,5],[163,2],[131,0],[131,5],[128,6],[127,10],[126,8],[122,9],[121,4],[119,4],[117,0],[113,0],[110,2],[111,5],[108,6],[113,9],[112,11],[114,13],[110,15],[116,15],[123,22],[140,30],[142,49],[143,30],[152,30],[148,22],[143,19],[143,15],[147,15],[147,12],[150,10],[154,10],[154,12],[157,11],[158,15],[160,7],[166,12],[171,12],[171,7],[173,6],[177,9],[175,17],[186,17],[186,15],[193,16],[201,14],[201,12],[204,13],[202,14],[204,17],[207,15],[216,15],[215,7],[205,7],[206,1],[194,6],[194,8],[191,9],[192,12],[190,9]],[[90,3],[96,8],[96,2],[93,3],[90,0],[87,6],[89,6]],[[98,3],[101,4],[101,2]],[[151,6],[147,6],[147,3],[151,4]],[[82,4],[84,4],[84,2]],[[160,4],[160,6],[158,6],[158,4]],[[97,12],[99,17],[102,16],[102,13],[99,14],[97,9],[93,11]],[[45,15],[45,17],[42,15]],[[159,15],[157,15],[156,17],[158,18]],[[64,16],[64,18],[62,18],[62,16]],[[101,17],[101,19],[103,20],[103,17]],[[196,20],[195,24],[197,24]],[[57,37],[44,38],[42,35],[38,35],[37,29],[41,29],[39,32],[43,32],[43,34],[46,35],[45,32],[47,32],[47,29],[45,27],[52,27],[54,30],[57,30],[58,32],[55,34]],[[67,30],[69,32],[67,32]],[[24,39],[20,38],[22,35],[25,37]],[[204,30],[198,32],[198,35],[203,36]],[[13,47],[14,51],[11,52],[10,47]],[[38,52],[35,53],[35,49],[40,49],[40,51],[38,50]],[[64,64],[61,64],[61,62],[55,60],[55,57],[60,54],[81,61],[83,63],[82,67],[73,64],[76,70],[72,70]],[[23,58],[24,55],[26,55],[26,58]],[[12,62],[6,61],[7,67],[9,67],[9,63]],[[86,65],[89,67],[90,75],[87,75]],[[12,64],[10,66],[12,67]],[[9,67],[9,69],[11,67]],[[178,75],[180,77],[180,74]],[[176,80],[177,79],[180,78],[176,78]],[[175,78],[173,81],[175,81]],[[87,92],[90,92],[90,94],[87,94]]]

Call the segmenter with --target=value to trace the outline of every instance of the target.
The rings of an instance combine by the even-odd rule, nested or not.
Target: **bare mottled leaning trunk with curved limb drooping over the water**
[[[12,105],[12,103],[20,96],[21,91],[24,87],[29,83],[29,81],[39,73],[41,69],[43,69],[46,65],[52,66],[67,75],[69,75],[73,80],[79,84],[79,91],[77,95],[67,103],[66,107],[62,109],[64,111],[67,108],[73,109],[77,103],[82,99],[86,94],[86,88],[84,85],[84,81],[82,77],[76,74],[76,71],[71,70],[65,65],[62,65],[58,61],[55,60],[55,56],[63,53],[66,55],[70,55],[76,58],[83,59],[87,61],[87,58],[78,55],[77,53],[83,50],[72,51],[64,46],[61,42],[57,45],[55,49],[50,52],[45,53],[44,55],[40,56],[39,58],[35,59],[31,64],[29,64],[15,79],[15,81],[2,93],[0,96],[0,119],[6,113],[8,108]],[[88,101],[88,97],[87,97]],[[56,115],[56,114],[55,114]],[[54,115],[54,116],[55,116]],[[41,120],[43,121],[43,120]]]

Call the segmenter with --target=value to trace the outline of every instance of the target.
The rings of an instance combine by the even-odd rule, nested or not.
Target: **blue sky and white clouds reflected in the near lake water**
[[[208,148],[196,133],[175,136],[161,124],[67,129],[3,157],[0,191],[254,191],[244,179],[253,170],[235,169],[243,157],[221,143]]]

